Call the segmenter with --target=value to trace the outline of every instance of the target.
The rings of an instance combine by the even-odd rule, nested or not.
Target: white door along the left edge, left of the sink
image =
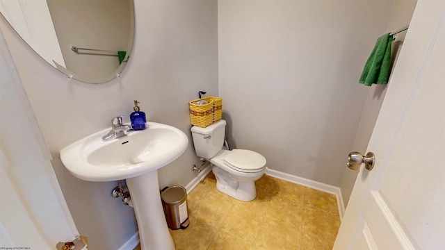
[[[0,249],[73,241],[79,233],[1,32],[0,118]]]

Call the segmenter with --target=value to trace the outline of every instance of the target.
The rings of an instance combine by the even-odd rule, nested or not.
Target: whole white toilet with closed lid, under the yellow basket
[[[191,128],[197,156],[209,160],[216,177],[216,188],[240,201],[252,201],[257,197],[254,181],[263,176],[266,158],[245,149],[223,149],[225,120],[201,128]]]

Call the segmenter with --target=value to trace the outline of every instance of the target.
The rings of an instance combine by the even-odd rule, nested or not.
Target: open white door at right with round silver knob
[[[418,1],[367,150],[334,249],[445,249],[445,1]]]

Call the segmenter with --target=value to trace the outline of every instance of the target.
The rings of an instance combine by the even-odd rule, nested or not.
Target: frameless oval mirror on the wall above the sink
[[[118,76],[133,46],[133,0],[0,0],[0,12],[47,63],[85,83]]]

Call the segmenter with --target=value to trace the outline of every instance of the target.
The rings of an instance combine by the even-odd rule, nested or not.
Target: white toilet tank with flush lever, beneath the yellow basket
[[[225,125],[225,120],[221,119],[205,128],[198,126],[191,128],[197,156],[210,159],[223,149]]]

